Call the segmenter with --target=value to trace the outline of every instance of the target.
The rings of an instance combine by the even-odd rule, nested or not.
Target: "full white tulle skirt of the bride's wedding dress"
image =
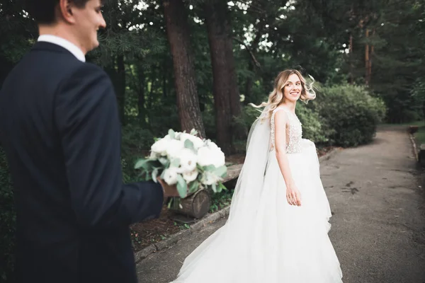
[[[288,204],[271,151],[254,213],[227,221],[207,238],[183,262],[175,283],[342,282],[327,234],[331,211],[312,141],[303,139],[302,152],[288,154],[288,161],[301,207]],[[231,214],[232,209],[238,208]]]

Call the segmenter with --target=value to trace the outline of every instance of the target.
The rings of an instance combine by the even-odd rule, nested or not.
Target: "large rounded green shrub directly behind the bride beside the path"
[[[305,104],[297,103],[297,117],[302,123],[302,136],[318,146],[357,146],[370,142],[376,126],[385,117],[382,99],[371,96],[361,86],[337,85],[319,87],[316,100]],[[246,105],[240,125],[251,127],[259,110]],[[244,147],[240,142],[239,147]]]

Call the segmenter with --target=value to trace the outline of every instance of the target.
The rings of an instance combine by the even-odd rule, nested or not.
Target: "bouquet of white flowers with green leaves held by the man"
[[[181,198],[202,188],[214,192],[225,189],[222,178],[227,174],[225,154],[209,139],[196,137],[197,132],[169,133],[151,146],[150,156],[137,161],[145,180],[160,176],[168,185],[176,185]]]

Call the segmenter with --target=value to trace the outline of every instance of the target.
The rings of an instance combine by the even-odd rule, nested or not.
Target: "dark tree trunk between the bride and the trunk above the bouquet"
[[[239,99],[238,103],[235,102],[236,96],[239,98],[239,91],[237,91],[237,86],[234,86],[236,82],[232,81],[235,80],[235,76],[230,74],[231,69],[234,72],[234,60],[233,54],[230,56],[228,50],[232,43],[228,42],[231,38],[228,34],[226,3],[222,1],[207,2],[204,12],[212,64],[217,144],[227,155],[232,152],[232,110],[236,110],[237,104],[239,104],[240,113],[240,103]],[[231,62],[228,62],[230,57],[232,57]],[[229,65],[232,66],[229,67]]]

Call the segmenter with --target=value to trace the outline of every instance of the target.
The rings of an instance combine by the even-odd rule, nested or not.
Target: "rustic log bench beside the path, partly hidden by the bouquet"
[[[242,164],[235,164],[227,167],[227,175],[223,179],[223,183],[227,183],[231,180],[237,179],[239,173],[242,170]],[[208,190],[198,190],[190,197],[186,197],[181,200],[181,207],[175,210],[177,214],[181,214],[187,217],[200,219],[205,214],[208,214],[211,206],[211,194],[214,192],[208,192]]]

